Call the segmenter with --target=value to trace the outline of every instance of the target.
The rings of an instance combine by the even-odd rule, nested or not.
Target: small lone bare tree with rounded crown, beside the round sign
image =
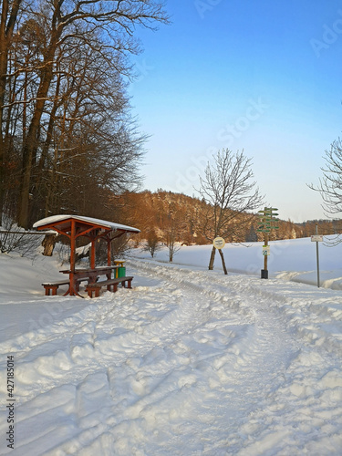
[[[250,223],[264,200],[253,181],[252,162],[244,156],[244,151],[235,154],[228,149],[213,155],[213,163],[208,163],[204,177],[200,176],[199,190],[203,201],[208,204],[207,216],[202,225],[202,233],[213,241],[217,236],[226,238],[237,233],[246,223]],[[216,249],[212,246],[209,269],[212,270]],[[226,273],[223,252],[223,269]]]

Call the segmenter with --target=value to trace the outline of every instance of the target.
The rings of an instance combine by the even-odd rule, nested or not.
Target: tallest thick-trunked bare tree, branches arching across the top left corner
[[[0,118],[3,117],[5,107],[6,85],[8,85],[8,56],[13,45],[13,34],[17,26],[17,17],[22,17],[21,0],[9,2],[3,0],[2,16],[0,22]],[[54,86],[57,84],[58,71],[60,70],[61,53],[70,52],[72,48],[80,48],[87,44],[92,46],[92,37],[97,34],[100,39],[99,47],[94,46],[94,51],[103,56],[108,55],[109,49],[112,55],[115,53],[127,57],[130,53],[139,51],[138,43],[133,39],[137,26],[153,28],[158,22],[167,22],[163,11],[163,5],[158,0],[134,0],[134,1],[106,1],[92,0],[36,0],[29,2],[26,10],[26,17],[29,17],[30,24],[35,26],[36,31],[43,31],[40,40],[42,46],[36,53],[36,60],[30,61],[23,72],[24,67],[17,67],[16,72],[24,74],[25,78],[29,72],[34,77],[31,79],[35,90],[27,91],[26,98],[19,100],[6,99],[7,107],[13,103],[20,103],[24,106],[24,114],[29,110],[29,119],[25,122],[25,135],[21,138],[21,174],[18,196],[18,223],[27,227],[30,224],[30,197],[33,184],[35,183],[36,160],[40,154],[41,133],[47,110],[54,105],[57,92]],[[26,20],[26,18],[25,18]],[[18,28],[18,27],[17,27]],[[24,41],[22,42],[22,44]],[[28,43],[28,42],[27,42]],[[26,44],[26,43],[25,43]],[[76,46],[76,47],[75,47]],[[27,54],[28,56],[28,54]],[[35,57],[36,57],[35,56]],[[22,62],[21,62],[22,63]],[[130,76],[130,66],[126,63],[121,66],[122,60],[113,58],[112,67],[125,77]],[[117,64],[119,64],[117,66]],[[18,74],[18,73],[16,73]],[[12,77],[14,74],[12,75]],[[78,78],[78,74],[74,75]],[[81,78],[82,76],[80,76]],[[27,82],[27,78],[26,78]],[[29,87],[26,84],[26,87]],[[91,103],[91,99],[88,100]],[[53,117],[50,117],[52,119]],[[9,118],[8,118],[9,119]],[[4,122],[6,119],[4,119]],[[4,123],[3,122],[3,123]],[[24,122],[23,122],[24,125]],[[4,125],[0,125],[4,127]],[[1,129],[2,132],[4,129]],[[17,135],[12,135],[14,138]],[[8,138],[10,138],[8,136]],[[5,140],[2,136],[0,141],[0,165],[5,161]],[[4,169],[1,167],[0,174],[0,204],[2,198]],[[0,208],[1,209],[1,208]]]

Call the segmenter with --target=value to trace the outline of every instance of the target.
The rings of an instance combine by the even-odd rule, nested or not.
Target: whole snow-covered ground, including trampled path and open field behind
[[[44,295],[57,257],[0,255],[0,454],[342,455],[342,244],[319,247],[320,288],[299,239],[268,280],[260,243],[224,247],[229,275],[210,246],[135,249],[133,289],[95,299]]]

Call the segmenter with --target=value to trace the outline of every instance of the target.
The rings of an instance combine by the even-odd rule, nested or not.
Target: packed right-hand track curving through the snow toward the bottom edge
[[[202,375],[192,388],[189,419],[179,439],[173,438],[170,454],[177,454],[185,435],[206,434],[202,454],[235,454],[255,428],[250,423],[254,412],[275,409],[272,393],[285,383],[286,368],[298,353],[296,337],[285,329],[285,315],[275,306],[274,295],[255,295],[241,278],[150,264],[140,264],[139,270],[165,278],[166,286],[178,284],[192,322],[187,346],[192,347],[193,339],[203,344],[195,346],[192,361],[192,372],[200,370]],[[208,344],[216,348],[210,354]],[[279,433],[274,440],[282,438]]]

